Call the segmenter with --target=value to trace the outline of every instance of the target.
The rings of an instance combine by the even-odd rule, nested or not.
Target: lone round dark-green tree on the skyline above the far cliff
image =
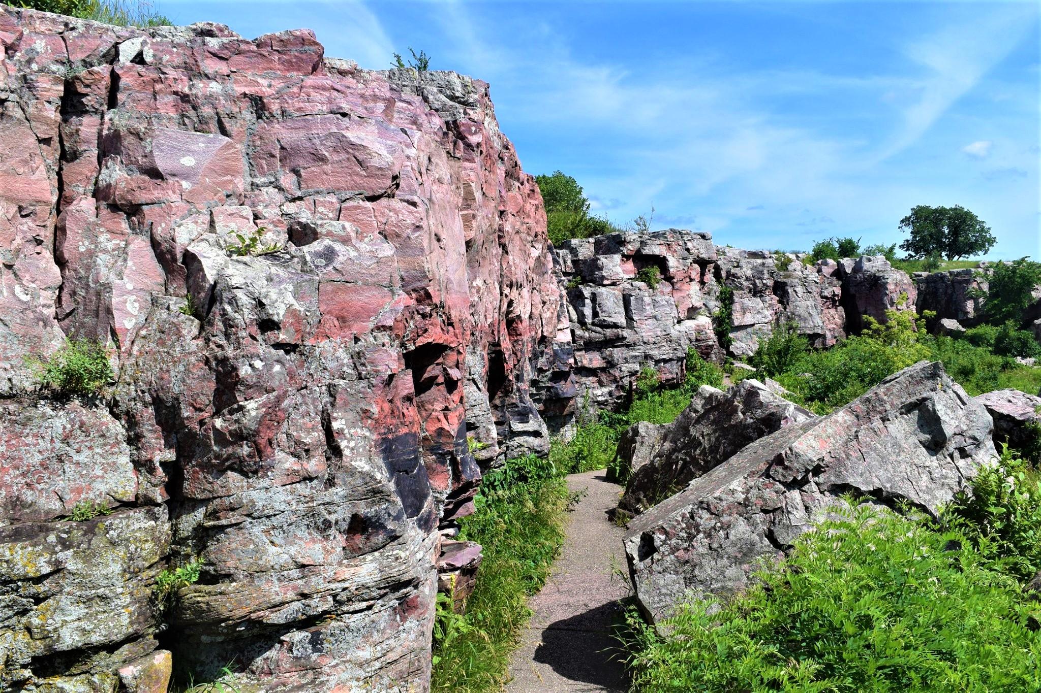
[[[900,219],[900,231],[910,237],[900,243],[912,258],[926,258],[934,252],[947,260],[985,254],[996,239],[990,226],[964,207],[918,205]]]

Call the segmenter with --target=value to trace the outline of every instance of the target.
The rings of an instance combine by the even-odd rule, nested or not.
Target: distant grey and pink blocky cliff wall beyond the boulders
[[[914,284],[885,258],[806,266],[805,256],[711,240],[670,229],[572,239],[556,250],[580,402],[618,407],[642,367],[675,382],[688,348],[712,361],[748,356],[788,322],[827,347],[862,329],[863,315],[885,321],[886,310],[914,308]],[[655,286],[641,281],[649,273]]]

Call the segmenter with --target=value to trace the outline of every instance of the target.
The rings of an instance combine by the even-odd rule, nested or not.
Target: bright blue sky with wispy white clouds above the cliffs
[[[1041,257],[1036,2],[193,2],[179,24],[308,27],[384,69],[407,47],[491,84],[526,170],[598,213],[808,249],[899,241],[914,205],[962,205],[991,257]]]

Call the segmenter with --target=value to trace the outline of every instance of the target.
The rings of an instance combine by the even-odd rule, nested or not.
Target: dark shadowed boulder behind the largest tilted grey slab
[[[618,507],[642,512],[750,443],[813,418],[759,380],[741,380],[726,392],[702,385],[672,423],[636,424],[626,431],[623,439],[637,439],[618,446],[621,461],[633,470]]]

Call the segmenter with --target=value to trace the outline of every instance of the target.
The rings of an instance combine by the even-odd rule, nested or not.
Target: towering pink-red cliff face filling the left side
[[[142,689],[158,638],[197,681],[425,690],[438,526],[545,449],[533,382],[575,393],[536,373],[569,334],[487,85],[306,30],[3,5],[0,45],[0,688]],[[106,406],[28,394],[67,335],[109,345]]]

